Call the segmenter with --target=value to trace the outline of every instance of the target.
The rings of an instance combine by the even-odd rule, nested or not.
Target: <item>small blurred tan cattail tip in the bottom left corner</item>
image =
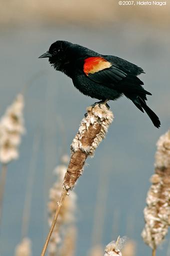
[[[15,256],[31,256],[31,241],[24,237],[22,241],[16,245]]]

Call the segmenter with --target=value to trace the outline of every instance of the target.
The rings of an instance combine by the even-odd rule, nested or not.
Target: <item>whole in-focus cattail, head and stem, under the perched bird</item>
[[[71,144],[71,156],[67,172],[64,177],[62,194],[59,202],[57,203],[56,212],[43,246],[41,256],[44,256],[45,254],[58,213],[66,195],[68,195],[68,191],[74,187],[76,180],[82,174],[86,158],[88,156],[93,156],[95,149],[105,137],[112,119],[113,114],[107,109],[105,104],[101,104],[100,106],[97,104],[94,107],[90,106],[87,108],[87,114],[82,119],[78,133]]]

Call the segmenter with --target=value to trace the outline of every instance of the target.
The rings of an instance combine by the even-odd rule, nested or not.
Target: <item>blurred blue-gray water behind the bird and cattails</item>
[[[25,83],[37,72],[44,71],[25,92],[26,134],[22,138],[19,159],[8,166],[0,255],[13,255],[20,240],[24,192],[35,133],[40,136],[40,145],[28,236],[32,240],[33,255],[39,255],[47,233],[45,193],[54,181],[52,170],[59,163],[62,136],[66,135],[64,150],[69,154],[69,145],[85,108],[94,102],[81,95],[69,78],[54,71],[46,59],[37,59],[55,40],[67,40],[102,54],[119,56],[146,72],[140,75],[140,79],[144,81],[144,88],[152,93],[148,96],[148,105],[160,117],[161,127],[156,129],[147,115],[125,97],[109,103],[114,121],[94,158],[87,160],[88,166],[75,187],[78,197],[76,255],[86,255],[90,247],[101,172],[108,175],[107,198],[100,202],[100,207],[105,207],[103,247],[117,235],[127,235],[137,242],[137,256],[150,255],[150,248],[140,237],[144,225],[142,211],[150,185],[149,177],[154,171],[155,143],[169,128],[170,36],[167,30],[135,23],[109,25],[107,29],[71,25],[0,28],[0,115]],[[118,219],[113,234],[116,212]],[[157,256],[165,255],[166,238]]]

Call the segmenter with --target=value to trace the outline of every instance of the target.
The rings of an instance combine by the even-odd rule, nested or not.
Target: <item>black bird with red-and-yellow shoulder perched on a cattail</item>
[[[100,103],[124,94],[139,110],[145,110],[154,126],[160,127],[159,118],[146,105],[146,94],[151,93],[142,87],[137,75],[144,72],[136,65],[66,41],[56,41],[39,58],[49,58],[51,66],[69,76],[80,92]]]

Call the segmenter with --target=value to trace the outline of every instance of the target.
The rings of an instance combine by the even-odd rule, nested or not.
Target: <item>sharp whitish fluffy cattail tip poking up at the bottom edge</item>
[[[105,247],[104,256],[123,256],[121,249],[123,248],[126,239],[127,238],[125,236],[118,236],[116,241],[108,243]]]

